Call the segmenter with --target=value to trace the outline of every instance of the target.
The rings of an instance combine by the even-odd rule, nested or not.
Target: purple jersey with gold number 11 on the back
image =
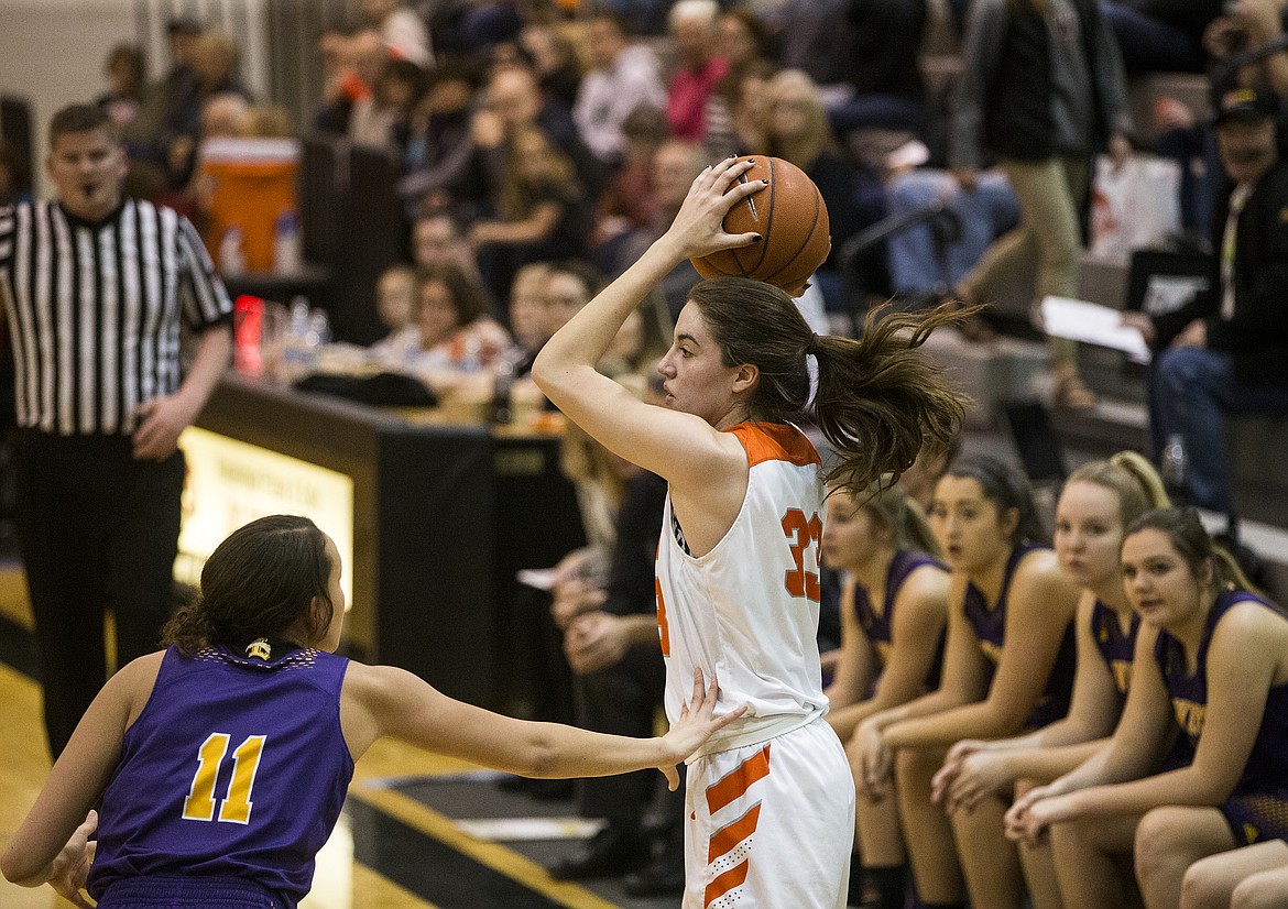
[[[294,906],[353,776],[348,666],[318,650],[263,662],[171,646],[103,793],[90,895],[142,876],[228,877]]]

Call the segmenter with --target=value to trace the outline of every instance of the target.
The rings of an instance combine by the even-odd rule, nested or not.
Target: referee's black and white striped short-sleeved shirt
[[[229,319],[232,303],[185,218],[128,200],[89,224],[57,202],[0,209],[0,295],[18,425],[130,434],[135,411],[180,382],[180,321]]]

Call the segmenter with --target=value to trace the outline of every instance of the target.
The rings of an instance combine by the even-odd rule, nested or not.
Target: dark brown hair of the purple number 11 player
[[[206,559],[197,599],[175,610],[161,644],[193,654],[281,637],[304,621],[310,644],[331,624],[326,534],[308,518],[269,515],[233,530]],[[313,610],[312,604],[318,603]]]

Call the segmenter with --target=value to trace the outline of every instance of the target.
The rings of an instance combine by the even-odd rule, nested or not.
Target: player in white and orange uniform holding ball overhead
[[[869,318],[859,341],[819,337],[787,292],[715,278],[676,321],[663,407],[599,375],[627,314],[675,265],[759,239],[723,228],[760,188],[738,183],[750,166],[707,167],[670,230],[546,342],[532,375],[590,435],[668,483],[657,564],[667,716],[694,668],[719,675],[717,712],[748,706],[689,766],[684,906],[844,906],[854,785],[822,721],[815,644],[824,474],[788,421],[813,416],[836,449],[829,476],[857,492],[908,467],[923,440],[944,447],[963,399],[917,348],[960,314],[891,314]]]

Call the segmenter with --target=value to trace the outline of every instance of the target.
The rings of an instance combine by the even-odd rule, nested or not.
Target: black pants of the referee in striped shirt
[[[174,597],[184,460],[135,461],[128,436],[19,430],[14,519],[27,574],[54,757],[116,663],[152,653]]]

